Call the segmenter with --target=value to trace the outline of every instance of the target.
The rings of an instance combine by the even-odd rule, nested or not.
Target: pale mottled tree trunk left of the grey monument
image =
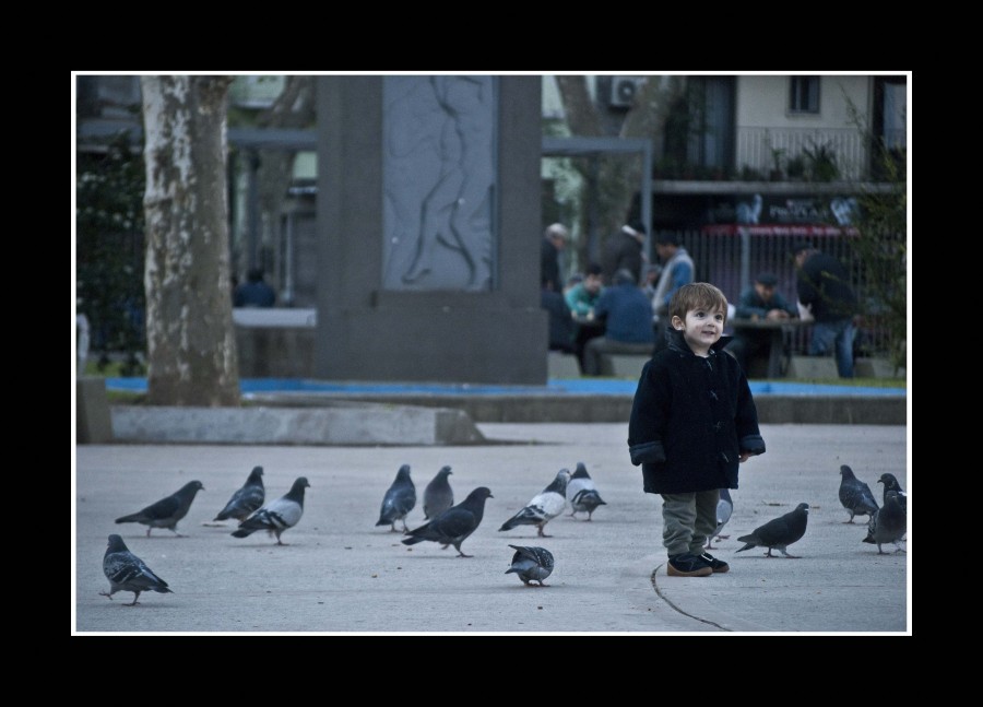
[[[141,79],[151,404],[239,404],[225,169],[230,83]]]

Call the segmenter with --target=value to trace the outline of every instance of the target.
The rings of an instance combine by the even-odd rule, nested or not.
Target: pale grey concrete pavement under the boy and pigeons
[[[731,572],[706,578],[665,574],[660,499],[641,491],[628,459],[627,425],[478,425],[486,445],[304,447],[84,445],[74,458],[72,633],[911,633],[909,553],[878,555],[862,543],[866,518],[848,525],[837,497],[850,464],[879,499],[883,472],[910,491],[908,428],[896,425],[766,424],[768,452],[742,466],[730,539],[714,555]],[[498,528],[552,481],[583,461],[607,505],[593,521],[555,518],[552,538]],[[485,518],[457,557],[377,528],[382,495],[400,464],[412,467],[422,525],[423,491],[450,464],[455,500],[488,486]],[[305,514],[287,546],[265,534],[230,537],[211,519],[253,466],[264,468],[268,500],[296,476],[310,481]],[[200,480],[186,534],[112,520]],[[737,535],[795,507],[812,506],[800,559],[736,553]],[[909,502],[910,504],[910,502]],[[582,518],[582,515],[581,515]],[[174,593],[112,601],[102,557],[109,533],[169,582]],[[909,535],[910,537],[910,535]],[[556,568],[548,587],[506,575],[512,544],[542,545]],[[887,546],[886,551],[893,547]]]

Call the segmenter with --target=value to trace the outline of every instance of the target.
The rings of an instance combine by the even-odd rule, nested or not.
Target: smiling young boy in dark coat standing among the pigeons
[[[666,573],[730,569],[703,550],[716,527],[720,488],[737,488],[737,464],[765,453],[747,378],[723,347],[727,299],[713,285],[680,287],[668,307],[668,344],[646,364],[628,423],[643,490],[661,494]]]

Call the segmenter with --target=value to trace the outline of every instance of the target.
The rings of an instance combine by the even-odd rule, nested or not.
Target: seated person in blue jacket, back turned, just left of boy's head
[[[652,353],[652,301],[636,284],[635,275],[625,268],[615,272],[614,284],[605,287],[594,307],[594,316],[604,319],[603,337],[591,339],[583,347],[583,373],[601,375],[603,354]]]

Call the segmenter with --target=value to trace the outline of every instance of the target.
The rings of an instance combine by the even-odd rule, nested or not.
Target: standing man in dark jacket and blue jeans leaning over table
[[[797,268],[798,302],[816,320],[809,355],[833,354],[840,378],[853,378],[853,339],[856,335],[853,316],[857,306],[846,268],[833,256],[806,241],[792,246],[792,252]]]

